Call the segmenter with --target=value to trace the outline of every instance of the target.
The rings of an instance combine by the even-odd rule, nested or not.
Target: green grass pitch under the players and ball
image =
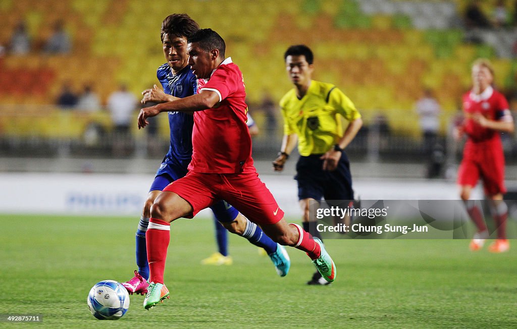
[[[308,257],[288,248],[290,273],[232,236],[227,267],[201,265],[215,250],[207,218],[171,228],[165,283],[171,299],[96,320],[86,305],[102,279],[132,276],[136,217],[1,215],[0,314],[42,315],[5,327],[512,327],[517,321],[517,243],[510,252],[468,250],[468,240],[327,240],[338,276],[307,286]]]

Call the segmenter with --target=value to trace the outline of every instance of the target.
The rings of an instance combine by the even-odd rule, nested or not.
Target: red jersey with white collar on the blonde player
[[[471,118],[475,113],[481,113],[490,120],[512,120],[508,109],[506,98],[492,87],[486,88],[480,95],[469,91],[463,96],[463,112],[465,121],[463,128],[468,135],[469,141],[474,143],[488,142],[489,140],[500,139],[498,131],[483,128]]]

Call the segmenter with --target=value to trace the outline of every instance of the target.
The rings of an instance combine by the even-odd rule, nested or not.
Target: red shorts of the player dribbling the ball
[[[234,206],[251,222],[275,224],[284,217],[277,201],[254,167],[239,174],[202,174],[189,171],[187,176],[169,184],[163,191],[174,192],[193,208],[192,218],[219,200]]]

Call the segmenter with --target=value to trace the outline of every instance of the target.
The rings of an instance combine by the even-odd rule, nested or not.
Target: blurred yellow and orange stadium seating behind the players
[[[509,56],[505,50],[514,31],[483,31],[486,42],[465,42],[458,22],[466,3],[225,0],[222,5],[194,0],[171,6],[166,0],[4,0],[0,44],[8,45],[14,26],[25,20],[35,50],[24,56],[7,53],[0,61],[0,104],[51,104],[65,81],[76,90],[93,83],[103,102],[120,82],[139,94],[156,82],[163,62],[161,21],[175,11],[189,13],[225,38],[227,54],[244,72],[250,103],[259,102],[265,91],[280,99],[291,87],[282,54],[290,44],[306,43],[315,51],[315,79],[341,87],[366,118],[383,113],[393,132],[418,136],[413,106],[422,90],[436,91],[446,120],[469,87],[469,66],[476,57],[493,60],[499,87],[515,85],[516,61],[501,57]],[[483,8],[490,11],[494,4],[483,2]],[[73,52],[41,55],[56,20],[66,22]]]

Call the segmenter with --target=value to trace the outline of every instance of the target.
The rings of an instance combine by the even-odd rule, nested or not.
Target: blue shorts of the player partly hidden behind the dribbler
[[[175,165],[172,161],[169,161],[168,158],[163,159],[160,168],[156,171],[155,180],[153,181],[153,184],[151,184],[149,192],[162,191],[170,183],[187,175],[187,165],[185,167],[180,167]],[[239,214],[237,209],[223,200],[214,203],[210,209],[214,212],[216,219],[222,223],[233,222]]]

